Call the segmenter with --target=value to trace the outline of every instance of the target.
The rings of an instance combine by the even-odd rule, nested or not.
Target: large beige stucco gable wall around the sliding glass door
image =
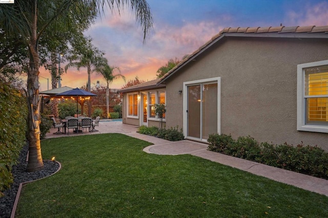
[[[328,59],[328,39],[229,38],[167,80],[167,127],[183,126],[183,82],[221,77],[221,133],[318,145],[328,134],[297,124],[297,64]]]

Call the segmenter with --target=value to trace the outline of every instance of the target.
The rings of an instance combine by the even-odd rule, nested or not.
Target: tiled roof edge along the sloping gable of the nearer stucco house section
[[[285,38],[328,38],[328,26],[304,26],[304,27],[227,27],[213,36],[205,44],[201,45],[198,50],[194,51],[187,58],[183,59],[179,64],[172,68],[166,75],[161,77],[157,85],[162,84],[166,79],[172,76],[180,67],[194,59],[198,54],[207,50],[212,44],[220,40],[222,37],[285,37]]]

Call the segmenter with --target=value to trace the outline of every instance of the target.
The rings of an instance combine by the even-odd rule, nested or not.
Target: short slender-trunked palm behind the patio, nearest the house
[[[119,74],[113,75],[114,69],[117,69],[119,71]],[[116,66],[109,66],[108,64],[105,64],[104,66],[100,66],[96,69],[98,74],[103,75],[104,79],[106,80],[107,87],[106,87],[106,114],[107,118],[109,118],[109,84],[113,82],[113,80],[117,78],[122,78],[125,82],[125,76],[120,74],[120,69]]]

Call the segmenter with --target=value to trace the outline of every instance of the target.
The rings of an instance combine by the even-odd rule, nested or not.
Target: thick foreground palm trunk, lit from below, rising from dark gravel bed
[[[40,146],[40,99],[39,99],[39,56],[37,51],[37,2],[35,1],[34,19],[31,24],[31,37],[29,41],[30,66],[27,77],[27,104],[29,109],[28,116],[28,140],[29,140],[29,157],[27,171],[34,172],[44,167],[41,146]]]

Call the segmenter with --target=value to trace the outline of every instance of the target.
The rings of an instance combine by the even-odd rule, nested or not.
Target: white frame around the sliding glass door
[[[183,135],[186,138],[192,139],[192,137],[188,137],[187,133],[187,101],[188,101],[188,86],[197,83],[208,83],[208,82],[216,82],[217,83],[217,133],[221,134],[221,77],[215,77],[210,79],[203,79],[203,80],[194,80],[189,82],[183,83]],[[207,140],[206,140],[207,141]]]

